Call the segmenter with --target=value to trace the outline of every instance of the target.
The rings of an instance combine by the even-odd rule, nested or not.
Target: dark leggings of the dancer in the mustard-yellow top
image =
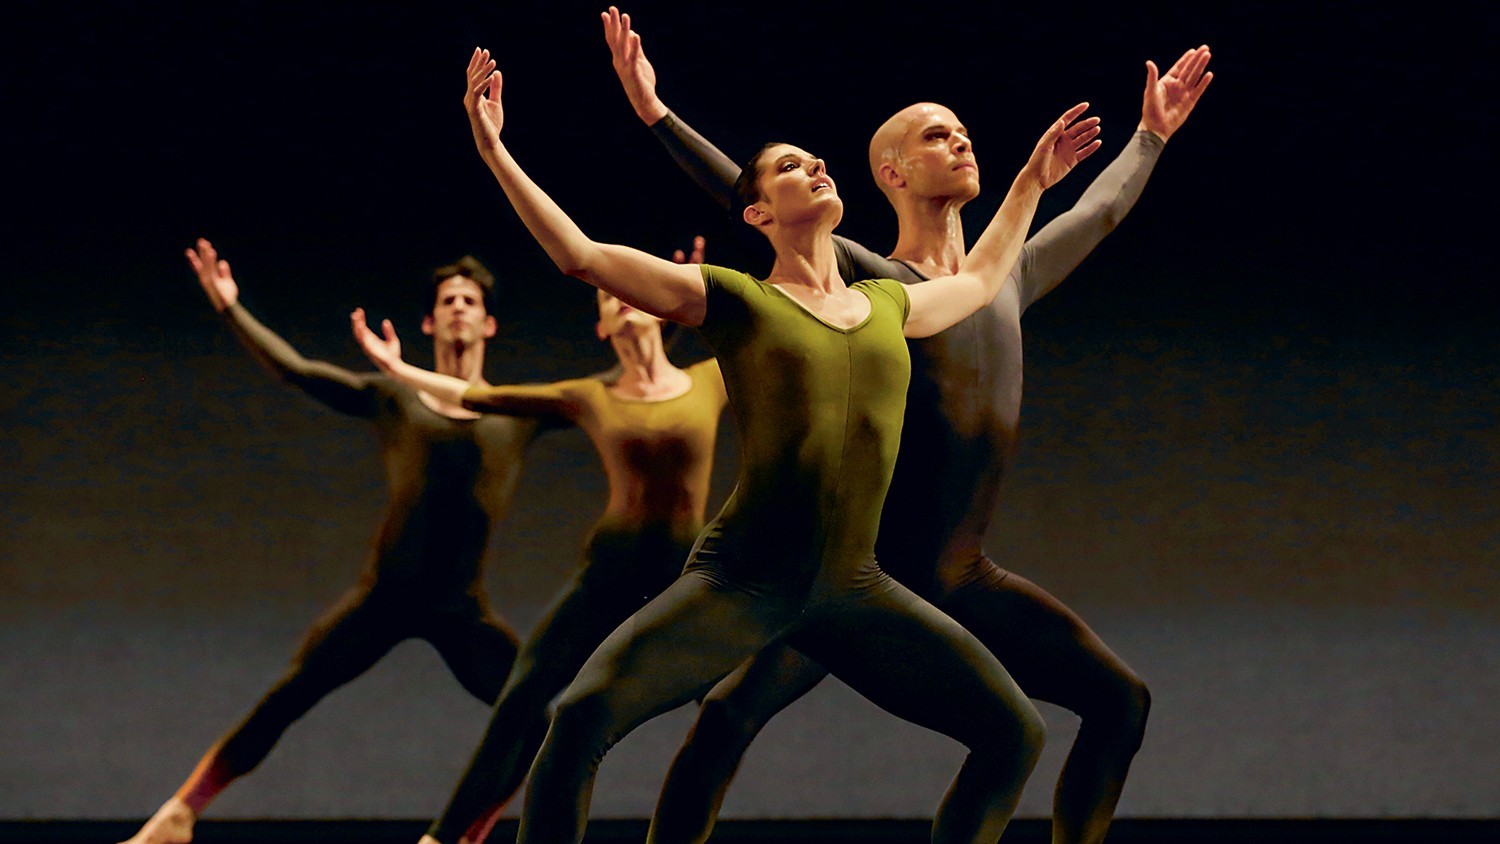
[[[598,531],[585,564],[558,592],[516,660],[489,729],[442,816],[428,831],[438,841],[483,840],[525,780],[548,732],[548,705],[578,675],[609,631],[645,606],[682,570],[692,532]]]

